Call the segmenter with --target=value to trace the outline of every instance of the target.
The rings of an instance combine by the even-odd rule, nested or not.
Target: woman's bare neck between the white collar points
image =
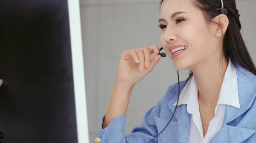
[[[228,66],[228,59],[209,58],[199,63],[195,70],[195,82],[198,87],[198,101],[201,104],[217,105],[218,98]]]

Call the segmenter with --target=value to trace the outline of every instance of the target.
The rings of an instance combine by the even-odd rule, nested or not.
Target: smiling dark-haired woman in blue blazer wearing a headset
[[[223,4],[227,11],[218,9]],[[123,51],[95,141],[255,143],[256,67],[240,33],[235,0],[161,0],[159,27],[163,49],[176,70],[191,70],[189,78],[171,85],[143,123],[124,136],[134,85],[161,56],[156,45]],[[152,53],[157,55],[151,59]]]

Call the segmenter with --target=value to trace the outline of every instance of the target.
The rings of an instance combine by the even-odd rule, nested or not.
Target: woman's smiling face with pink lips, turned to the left
[[[176,70],[192,70],[219,54],[219,39],[194,0],[163,0],[159,25],[161,45]]]

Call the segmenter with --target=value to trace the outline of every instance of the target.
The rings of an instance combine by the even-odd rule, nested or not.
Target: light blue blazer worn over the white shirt
[[[222,128],[209,143],[256,143],[256,76],[241,67],[236,74],[240,109],[226,105]],[[180,83],[181,87],[184,83]],[[157,105],[145,113],[143,123],[127,136],[124,136],[126,115],[113,119],[105,129],[101,123],[98,133],[101,143],[148,143],[169,122],[177,96],[178,84],[169,86]],[[188,143],[190,117],[186,104],[178,106],[172,121],[151,143]]]

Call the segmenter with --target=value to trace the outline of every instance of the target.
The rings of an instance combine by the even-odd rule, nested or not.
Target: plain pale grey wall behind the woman
[[[99,129],[117,73],[122,50],[156,44],[160,46],[158,25],[160,0],[80,0],[82,39],[86,76],[90,140]],[[237,0],[242,33],[256,62],[256,0]],[[249,12],[250,10],[250,12]],[[180,73],[186,79],[187,71]],[[177,82],[177,72],[169,58],[161,59],[153,72],[140,81],[131,96],[126,133],[142,122],[143,115],[167,87]],[[147,99],[147,100],[145,100]]]

